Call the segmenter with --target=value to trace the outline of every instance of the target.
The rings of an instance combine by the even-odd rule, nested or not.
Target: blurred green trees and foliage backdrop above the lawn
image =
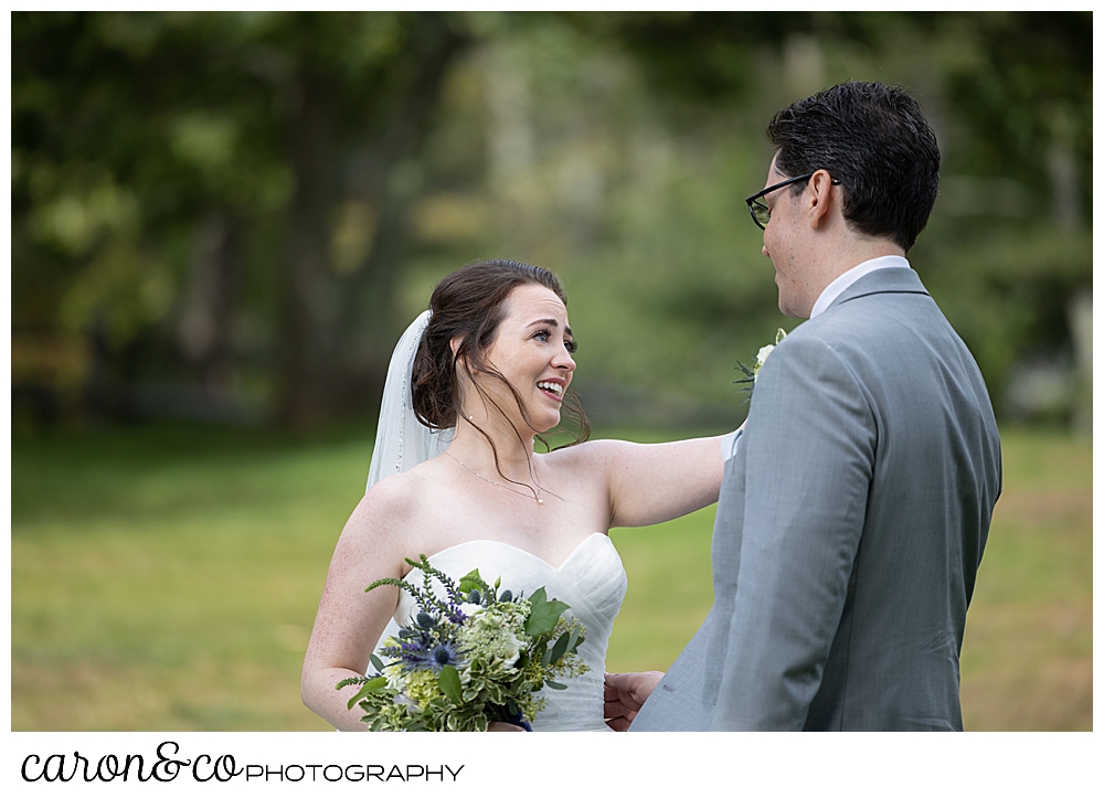
[[[371,419],[479,257],[564,276],[598,421],[736,423],[736,361],[795,324],[742,201],[763,130],[852,78],[936,130],[911,257],[998,413],[1039,363],[1043,415],[1089,407],[1089,12],[18,12],[12,56],[20,428]]]

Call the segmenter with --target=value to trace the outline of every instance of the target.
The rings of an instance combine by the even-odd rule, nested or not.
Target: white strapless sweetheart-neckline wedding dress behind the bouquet
[[[565,680],[566,690],[545,688],[543,695],[549,700],[548,706],[534,719],[533,731],[611,731],[603,717],[603,674],[609,634],[625,598],[628,579],[608,535],[592,534],[559,567],[509,543],[488,540],[445,549],[431,556],[429,564],[457,582],[478,568],[479,575],[490,584],[501,577],[500,589],[509,588],[514,595],[530,596],[544,587],[549,598],[558,598],[571,607],[565,615],[577,618],[586,627],[586,639],[578,647],[578,655],[590,670]],[[418,586],[423,578],[416,570],[406,576]],[[396,621],[408,623],[416,608],[411,595],[403,592],[383,639],[397,635]]]

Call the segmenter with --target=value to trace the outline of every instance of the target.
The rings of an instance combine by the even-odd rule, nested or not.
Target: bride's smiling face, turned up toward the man
[[[484,358],[521,396],[532,432],[543,433],[560,423],[560,407],[575,371],[571,357],[575,341],[567,326],[567,308],[548,288],[523,285],[507,297],[506,311]],[[526,418],[517,411],[510,390],[489,375],[477,373],[475,379],[514,426],[524,429]],[[471,398],[469,408],[481,407],[477,396]]]

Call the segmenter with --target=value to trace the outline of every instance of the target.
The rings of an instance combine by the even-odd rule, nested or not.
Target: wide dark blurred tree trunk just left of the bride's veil
[[[394,294],[402,269],[404,220],[412,191],[396,189],[394,169],[421,150],[448,66],[467,42],[442,13],[412,15],[407,45],[388,67],[386,85],[365,96],[352,136],[373,130],[360,147],[342,148],[338,111],[327,92],[336,77],[300,77],[291,120],[296,188],[288,220],[279,391],[276,421],[302,426],[333,413],[371,406],[382,390],[396,338]],[[383,120],[381,124],[380,120]],[[350,275],[329,268],[331,216],[344,198],[339,164],[360,150],[369,175],[350,193],[378,210],[374,242]]]

